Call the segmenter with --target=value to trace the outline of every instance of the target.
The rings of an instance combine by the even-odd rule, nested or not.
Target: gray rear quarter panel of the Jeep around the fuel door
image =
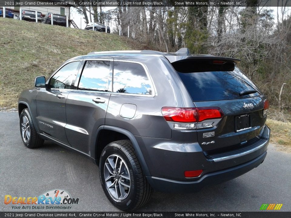
[[[155,87],[155,96],[134,96],[112,92],[105,125],[120,127],[133,135],[154,138],[171,138],[171,128],[162,116],[162,107],[193,107],[194,103],[169,61],[160,56],[143,56],[132,59],[145,64]],[[116,59],[115,59],[116,60]],[[135,104],[132,119],[119,115],[122,104]]]

